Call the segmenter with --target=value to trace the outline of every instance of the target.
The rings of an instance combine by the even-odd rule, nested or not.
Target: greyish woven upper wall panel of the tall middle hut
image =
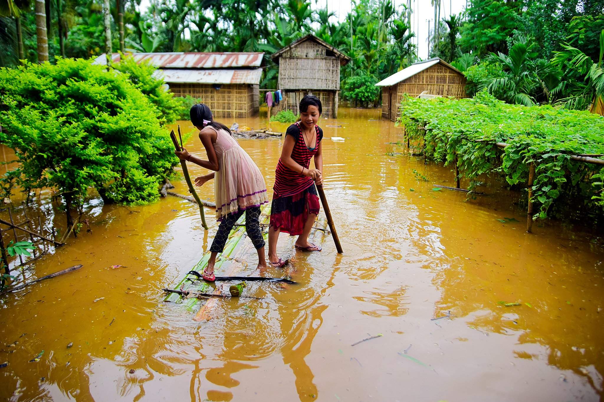
[[[278,87],[281,89],[339,90],[340,63],[338,58],[279,59]]]

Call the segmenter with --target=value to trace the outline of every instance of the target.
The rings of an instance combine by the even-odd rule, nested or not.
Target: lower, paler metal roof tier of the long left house
[[[163,78],[169,84],[260,84],[262,69],[162,69],[153,75]]]

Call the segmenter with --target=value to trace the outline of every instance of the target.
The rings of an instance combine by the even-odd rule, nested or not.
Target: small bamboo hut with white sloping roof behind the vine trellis
[[[418,96],[422,92],[430,95],[467,98],[466,77],[446,61],[438,57],[411,64],[380,81],[382,87],[382,118],[396,121],[403,95]]]

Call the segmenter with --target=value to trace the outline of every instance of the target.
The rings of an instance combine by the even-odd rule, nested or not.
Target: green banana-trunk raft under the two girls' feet
[[[265,240],[268,239],[268,228],[269,220],[271,218],[271,206],[265,205],[261,207],[262,213],[260,214],[260,227],[263,231],[263,237]],[[323,216],[318,216],[315,220],[312,230],[310,231],[309,240],[314,243],[323,243],[326,234],[329,234],[327,230],[327,220]],[[242,257],[246,253],[253,250],[251,240],[245,232],[245,214],[239,218],[237,224],[229,233],[228,240],[224,251],[218,255],[216,259],[216,265],[214,265],[214,272],[216,277],[234,277],[236,274],[243,271],[247,264],[243,261]],[[255,256],[254,256],[255,258]],[[216,283],[206,282],[200,280],[199,275],[204,271],[208,265],[208,259],[210,259],[210,251],[207,251],[199,260],[196,265],[193,266],[191,271],[197,272],[196,274],[187,273],[178,283],[173,284],[171,289],[178,291],[191,291],[191,294],[221,294],[221,286],[217,286]],[[254,264],[255,265],[255,264]],[[210,310],[216,305],[219,298],[194,298],[184,297],[182,292],[169,292],[164,298],[164,301],[172,301],[176,304],[182,304],[185,309],[194,311],[199,309],[198,313],[193,318],[195,321],[202,321],[209,318]]]

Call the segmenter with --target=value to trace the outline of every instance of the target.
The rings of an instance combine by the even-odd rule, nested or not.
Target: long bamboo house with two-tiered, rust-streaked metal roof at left
[[[176,96],[193,96],[207,104],[215,118],[248,118],[258,114],[264,53],[169,52],[133,53],[149,61]],[[114,63],[120,54],[112,55]],[[104,54],[94,63],[106,64]]]

